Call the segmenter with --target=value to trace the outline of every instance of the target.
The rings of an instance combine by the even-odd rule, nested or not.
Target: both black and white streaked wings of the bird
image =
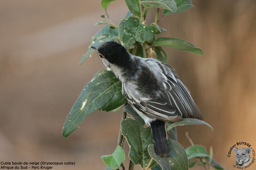
[[[145,59],[145,61],[150,72],[155,74],[156,79],[158,79],[157,82],[163,83],[162,86],[159,86],[161,87],[159,89],[160,95],[152,96],[148,100],[138,100],[138,98],[135,100],[124,90],[128,102],[147,117],[157,118],[165,122],[178,122],[182,120],[182,117],[203,120],[203,116],[193,101],[187,86],[174,72],[174,68],[156,59]],[[157,70],[152,70],[153,68]]]

